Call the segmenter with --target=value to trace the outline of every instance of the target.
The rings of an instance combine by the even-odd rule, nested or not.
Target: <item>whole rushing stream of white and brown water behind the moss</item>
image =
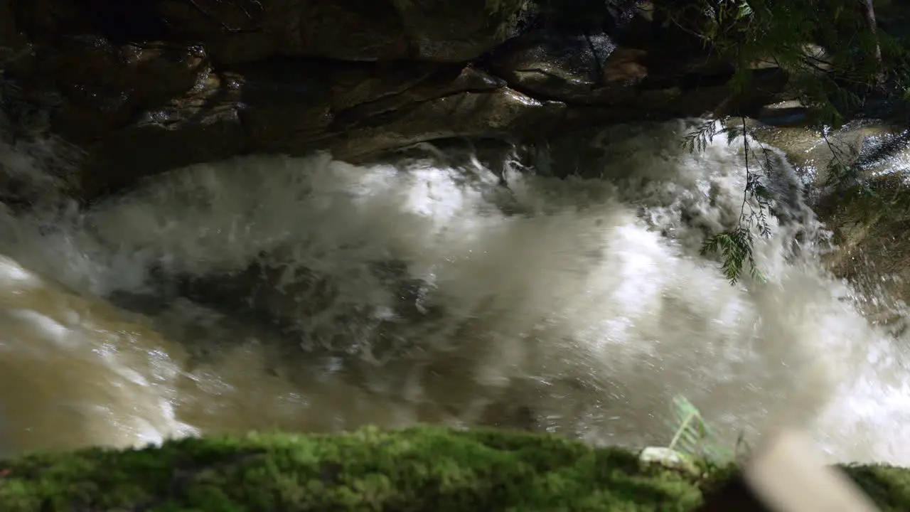
[[[258,157],[0,211],[0,451],[416,422],[662,444],[682,394],[731,443],[787,423],[910,464],[910,340],[822,269],[785,165],[768,281],[724,280],[700,249],[743,208],[741,147],[684,129],[605,132],[598,179]]]

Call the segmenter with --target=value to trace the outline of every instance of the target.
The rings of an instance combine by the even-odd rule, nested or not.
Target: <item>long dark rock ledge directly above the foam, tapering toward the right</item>
[[[329,148],[338,158],[363,160],[435,138],[521,137],[558,119],[564,107],[502,87],[500,79],[472,68],[389,72],[369,80],[362,69],[318,65],[209,74],[201,89],[142,113],[93,146],[97,157],[86,169],[86,193],[242,152],[299,155]],[[350,80],[357,74],[365,79]],[[137,152],[149,158],[136,161]]]

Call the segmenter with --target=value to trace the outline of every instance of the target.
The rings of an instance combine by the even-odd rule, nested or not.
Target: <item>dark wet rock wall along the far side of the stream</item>
[[[729,67],[647,4],[0,0],[3,104],[20,135],[85,150],[87,197],[245,153],[362,161],[729,108]]]

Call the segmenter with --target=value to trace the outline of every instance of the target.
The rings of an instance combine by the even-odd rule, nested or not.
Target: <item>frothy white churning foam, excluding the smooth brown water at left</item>
[[[813,426],[834,458],[910,463],[898,421],[910,404],[897,399],[907,385],[905,349],[842,300],[852,292],[813,251],[794,256],[794,231],[815,228],[803,210],[794,213],[806,224],[772,221],[775,234],[759,242],[767,284],[730,286],[700,250],[706,231],[732,227],[741,211],[740,146],[718,141],[690,155],[678,148],[681,128],[604,136],[612,157],[594,174],[611,180],[510,169],[508,190],[489,169],[430,160],[199,165],[97,204],[51,234],[15,219],[17,238],[5,251],[102,295],[241,271],[263,252],[283,265],[269,284],[288,294],[278,301],[301,338],[259,333],[264,344],[302,341],[331,355],[301,355],[300,376],[285,384],[265,370],[252,374],[259,364],[229,362],[194,371],[191,389],[157,384],[172,390],[160,391],[167,400],[221,404],[198,412],[208,418],[199,425],[463,425],[490,407],[526,404],[541,428],[641,445],[669,435],[660,418],[672,395],[685,394],[731,441],[739,429],[788,422]],[[406,262],[407,277],[425,281],[420,311],[437,313],[395,317],[399,295],[372,270],[382,261]],[[329,299],[300,286],[314,272],[330,282]],[[158,320],[202,329],[197,317],[179,318]],[[382,328],[391,334],[379,327],[389,318],[397,323]],[[229,322],[213,316],[205,329],[246,343],[248,333]],[[870,358],[872,350],[882,355]],[[262,389],[257,415],[271,419],[247,411],[250,386]],[[875,404],[882,396],[894,397],[887,409]]]

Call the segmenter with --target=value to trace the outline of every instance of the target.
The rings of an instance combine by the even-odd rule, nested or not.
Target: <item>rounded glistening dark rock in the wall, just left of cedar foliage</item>
[[[787,83],[776,68],[756,70],[754,86],[734,97],[727,87],[733,77],[729,63],[654,44],[621,46],[617,40],[605,33],[535,30],[502,45],[489,66],[510,87],[533,97],[595,108],[579,108],[579,119],[610,121],[759,108]]]

